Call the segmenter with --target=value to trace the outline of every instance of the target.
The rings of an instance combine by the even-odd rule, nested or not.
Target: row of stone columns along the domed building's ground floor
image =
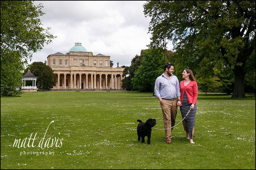
[[[89,76],[91,78],[89,80]],[[54,89],[121,89],[122,85],[122,74],[96,74],[96,73],[58,73],[56,88]],[[62,81],[64,75],[64,81]],[[77,81],[76,76],[79,75],[79,81]],[[104,76],[105,75],[105,76]],[[60,78],[61,77],[61,78]],[[73,78],[74,77],[74,78]],[[69,78],[66,85],[66,80]],[[61,79],[61,86],[60,86]],[[76,85],[77,84],[77,85]],[[89,85],[90,84],[90,85]]]

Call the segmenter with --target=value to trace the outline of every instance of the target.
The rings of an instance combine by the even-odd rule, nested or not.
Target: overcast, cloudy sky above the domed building
[[[31,63],[44,62],[49,54],[65,54],[81,42],[93,55],[110,55],[114,66],[130,66],[141,49],[147,49],[149,17],[143,13],[146,1],[35,1],[46,13],[43,27],[57,36],[33,54]],[[169,48],[168,48],[169,49]]]

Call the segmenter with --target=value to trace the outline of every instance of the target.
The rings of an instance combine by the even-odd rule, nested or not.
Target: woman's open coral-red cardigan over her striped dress
[[[186,90],[186,94],[188,97],[188,103],[194,103],[196,104],[197,102],[197,95],[198,95],[198,90],[197,90],[197,83],[196,81],[190,81],[188,85],[184,86],[184,80],[180,82],[180,92],[181,92],[181,104],[184,96],[184,92]]]

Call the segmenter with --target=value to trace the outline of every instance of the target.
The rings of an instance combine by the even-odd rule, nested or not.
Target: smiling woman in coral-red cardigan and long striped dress
[[[196,102],[198,95],[197,83],[192,70],[185,69],[182,73],[182,78],[184,78],[185,80],[180,82],[180,113],[183,119],[191,108],[190,112],[183,120],[183,126],[186,131],[186,138],[189,139],[190,144],[194,144],[193,135],[196,117]]]

